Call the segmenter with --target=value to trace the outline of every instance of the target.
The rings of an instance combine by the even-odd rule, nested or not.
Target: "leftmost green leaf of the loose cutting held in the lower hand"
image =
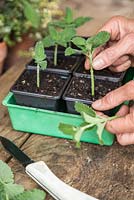
[[[69,125],[69,124],[64,124],[64,123],[60,123],[58,128],[64,134],[66,134],[66,135],[72,135],[72,136],[74,136],[74,134],[77,131],[77,127],[76,126]]]

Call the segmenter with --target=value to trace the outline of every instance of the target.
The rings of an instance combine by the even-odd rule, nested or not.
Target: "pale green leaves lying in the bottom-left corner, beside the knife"
[[[1,200],[44,200],[45,192],[39,189],[24,190],[22,185],[14,183],[11,168],[0,160],[0,199]]]

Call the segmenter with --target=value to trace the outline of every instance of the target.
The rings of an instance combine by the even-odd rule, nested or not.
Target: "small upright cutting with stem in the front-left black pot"
[[[37,64],[37,88],[40,87],[40,69],[45,70],[47,67],[46,54],[41,41],[37,42],[34,48],[34,60]]]

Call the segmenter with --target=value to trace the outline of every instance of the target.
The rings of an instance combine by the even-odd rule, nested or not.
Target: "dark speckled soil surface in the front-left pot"
[[[36,70],[25,71],[12,89],[28,93],[59,96],[67,81],[66,76],[41,71],[40,88],[37,88],[36,77]]]

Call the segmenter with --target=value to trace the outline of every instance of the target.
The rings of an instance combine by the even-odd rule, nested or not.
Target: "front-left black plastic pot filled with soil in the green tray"
[[[53,74],[57,78],[62,80],[61,90],[59,91],[58,95],[48,95],[48,94],[39,94],[38,91],[36,93],[34,92],[27,92],[27,91],[21,91],[17,89],[17,84],[20,84],[22,81],[25,81],[23,79],[23,76],[25,74],[28,74],[27,76],[31,75],[31,81],[33,81],[33,76],[36,74],[36,70],[25,70],[21,76],[18,78],[16,83],[13,85],[11,88],[11,92],[13,92],[16,103],[19,105],[24,105],[24,106],[30,106],[30,107],[35,107],[35,108],[44,108],[47,110],[53,110],[53,111],[59,111],[61,110],[61,106],[64,104],[63,100],[61,99],[61,96],[70,80],[70,76],[63,76],[60,74],[53,74],[50,72],[41,72],[42,77],[46,79],[46,76]],[[52,79],[50,80],[50,82]],[[36,82],[36,80],[35,80]],[[36,84],[36,83],[35,83]],[[47,83],[47,87],[49,88],[49,81]],[[57,83],[55,81],[55,87]],[[29,88],[30,88],[30,82],[29,82]]]

